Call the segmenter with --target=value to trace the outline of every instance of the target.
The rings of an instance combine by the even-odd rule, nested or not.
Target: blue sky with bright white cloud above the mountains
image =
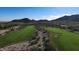
[[[79,14],[79,7],[0,7],[0,21],[21,18],[54,20],[72,14]]]

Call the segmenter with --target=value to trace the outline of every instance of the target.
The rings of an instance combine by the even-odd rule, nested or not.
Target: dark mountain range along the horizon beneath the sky
[[[48,20],[38,20],[38,22],[47,22]],[[71,15],[71,16],[63,16],[51,21],[76,21],[79,22],[79,14]],[[15,19],[11,22],[37,22],[36,20],[29,19],[29,18],[23,18],[23,19]]]

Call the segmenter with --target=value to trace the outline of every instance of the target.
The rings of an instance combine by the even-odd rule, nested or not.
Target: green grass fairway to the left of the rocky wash
[[[34,26],[27,26],[19,31],[10,32],[5,36],[0,37],[0,47],[6,45],[14,44],[17,42],[32,40],[36,34],[36,29]]]

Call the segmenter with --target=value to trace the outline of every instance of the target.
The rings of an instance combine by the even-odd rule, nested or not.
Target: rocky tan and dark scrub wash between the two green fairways
[[[54,51],[50,45],[48,33],[42,30],[37,32],[37,36],[27,42],[17,43],[4,48],[0,51]]]

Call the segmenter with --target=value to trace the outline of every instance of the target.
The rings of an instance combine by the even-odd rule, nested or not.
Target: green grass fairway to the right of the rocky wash
[[[61,51],[79,51],[79,34],[60,28],[46,28],[54,48]]]

